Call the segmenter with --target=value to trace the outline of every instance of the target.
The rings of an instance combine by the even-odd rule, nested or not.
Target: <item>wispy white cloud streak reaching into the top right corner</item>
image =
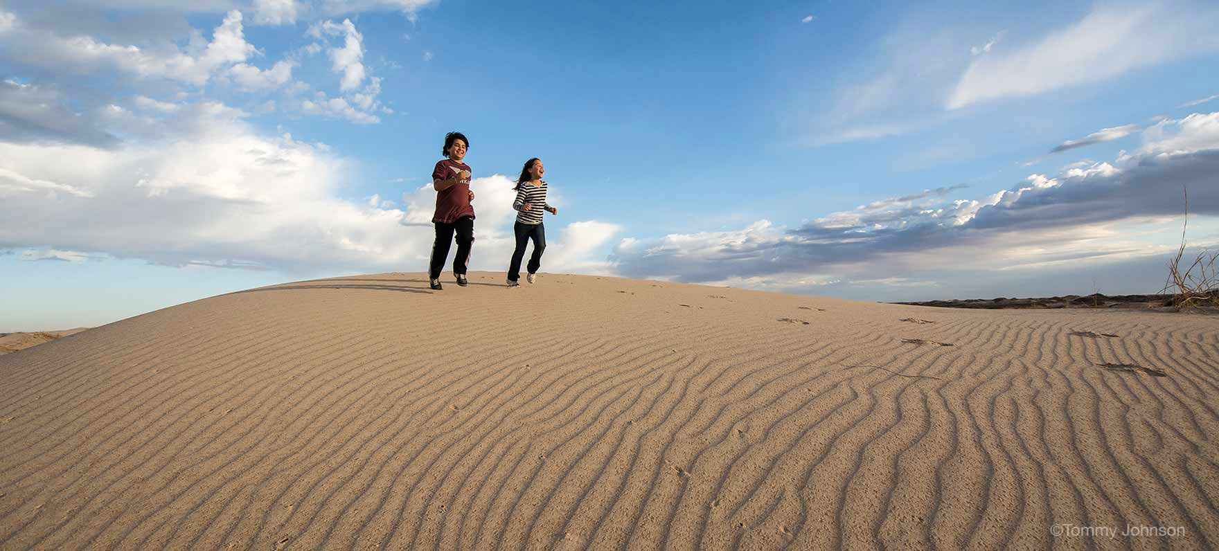
[[[1081,21],[1008,51],[978,56],[948,108],[1096,83],[1128,71],[1219,48],[1217,11],[1204,5],[1104,4]]]

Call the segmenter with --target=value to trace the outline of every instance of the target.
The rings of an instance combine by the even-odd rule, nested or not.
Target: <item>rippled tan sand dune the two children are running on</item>
[[[471,276],[0,356],[0,549],[1219,547],[1212,317]]]

